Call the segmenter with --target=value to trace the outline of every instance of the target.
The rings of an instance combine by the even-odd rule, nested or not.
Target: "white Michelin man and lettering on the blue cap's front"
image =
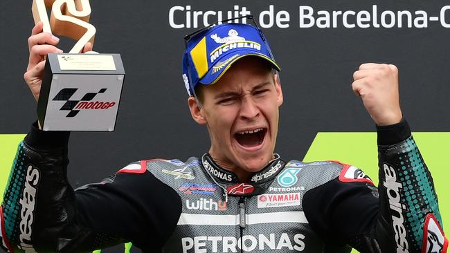
[[[258,51],[261,50],[261,44],[255,41],[247,41],[244,37],[240,37],[239,33],[235,29],[228,30],[228,37],[221,38],[217,36],[217,33],[210,35],[211,39],[217,44],[224,44],[219,46],[210,53],[210,61],[213,63],[220,55],[226,53],[228,50],[236,48],[254,48]]]

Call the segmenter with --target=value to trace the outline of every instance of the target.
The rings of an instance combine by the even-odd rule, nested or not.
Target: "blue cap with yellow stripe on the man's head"
[[[189,95],[198,84],[214,84],[231,64],[249,55],[266,59],[280,71],[262,32],[247,24],[222,24],[188,40],[183,54],[183,80]]]

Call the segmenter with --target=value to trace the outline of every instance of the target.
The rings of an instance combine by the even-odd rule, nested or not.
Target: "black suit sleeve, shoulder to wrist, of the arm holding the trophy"
[[[19,144],[1,204],[10,252],[84,252],[132,241],[157,250],[181,213],[178,194],[147,169],[73,191],[66,176],[68,132],[32,127]]]

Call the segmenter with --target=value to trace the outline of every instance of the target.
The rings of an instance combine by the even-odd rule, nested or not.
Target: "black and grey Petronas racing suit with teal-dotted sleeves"
[[[35,126],[1,205],[10,252],[447,252],[433,180],[406,121],[377,127],[379,186],[341,162],[278,155],[249,182],[200,159],[132,162],[73,191],[67,132]]]

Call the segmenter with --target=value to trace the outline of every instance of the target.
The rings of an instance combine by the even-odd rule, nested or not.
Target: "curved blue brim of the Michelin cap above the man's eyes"
[[[273,68],[275,68],[277,71],[281,71],[280,66],[276,64],[276,62],[273,62],[272,59],[267,57],[267,55],[264,55],[262,53],[259,53],[255,50],[239,50],[232,53],[228,53],[226,55],[222,55],[220,59],[217,61],[217,63],[210,68],[210,70],[206,73],[206,75],[199,80],[201,84],[215,84],[226,71],[235,63],[238,59],[241,59],[243,57],[247,56],[258,56],[262,59],[267,60],[269,64]]]

